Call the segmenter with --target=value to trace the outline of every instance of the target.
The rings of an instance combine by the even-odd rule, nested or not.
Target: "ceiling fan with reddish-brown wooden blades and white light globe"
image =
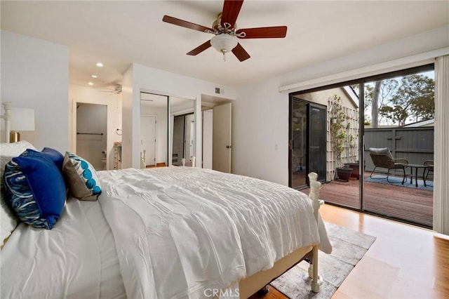
[[[286,37],[287,26],[237,29],[236,20],[239,16],[242,4],[243,0],[225,0],[225,3],[223,4],[223,11],[218,14],[218,18],[215,22],[213,22],[211,28],[173,18],[168,15],[164,15],[162,20],[163,22],[168,22],[173,25],[215,34],[212,39],[194,48],[192,51],[187,53],[187,55],[197,55],[207,48],[210,48],[210,46],[213,46],[213,48],[217,51],[223,53],[223,60],[225,61],[225,55],[230,51],[232,51],[232,53],[234,53],[236,58],[240,61],[244,61],[250,58],[250,55],[241,46],[238,39],[283,38]]]

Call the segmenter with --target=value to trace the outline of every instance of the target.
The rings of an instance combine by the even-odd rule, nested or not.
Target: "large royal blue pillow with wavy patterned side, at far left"
[[[65,204],[64,179],[46,154],[26,150],[5,166],[6,198],[18,218],[51,230]]]

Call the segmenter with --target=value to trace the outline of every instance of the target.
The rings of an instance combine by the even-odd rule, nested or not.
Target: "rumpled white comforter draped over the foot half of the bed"
[[[201,168],[99,176],[128,298],[203,298],[320,241],[310,199],[288,187]]]

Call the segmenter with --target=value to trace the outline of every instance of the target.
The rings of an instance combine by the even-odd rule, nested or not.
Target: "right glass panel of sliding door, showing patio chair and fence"
[[[363,88],[363,209],[432,227],[433,178],[423,176],[424,162],[434,160],[434,71],[415,70],[366,81]],[[389,169],[370,149],[387,149],[387,157],[404,166]]]

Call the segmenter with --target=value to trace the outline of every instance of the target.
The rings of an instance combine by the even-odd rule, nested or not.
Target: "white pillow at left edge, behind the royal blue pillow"
[[[27,149],[36,150],[36,147],[34,147],[31,143],[28,141],[19,141],[14,143],[0,143],[0,181],[1,181],[1,208],[0,208],[0,228],[1,228],[1,234],[0,234],[0,247],[4,246],[4,241],[6,238],[8,238],[15,227],[18,224],[18,218],[15,216],[15,214],[11,211],[11,209],[6,204],[6,199],[4,199],[4,186],[3,186],[3,173],[5,171],[5,165],[11,159],[14,157],[18,157],[22,152],[25,152]]]

